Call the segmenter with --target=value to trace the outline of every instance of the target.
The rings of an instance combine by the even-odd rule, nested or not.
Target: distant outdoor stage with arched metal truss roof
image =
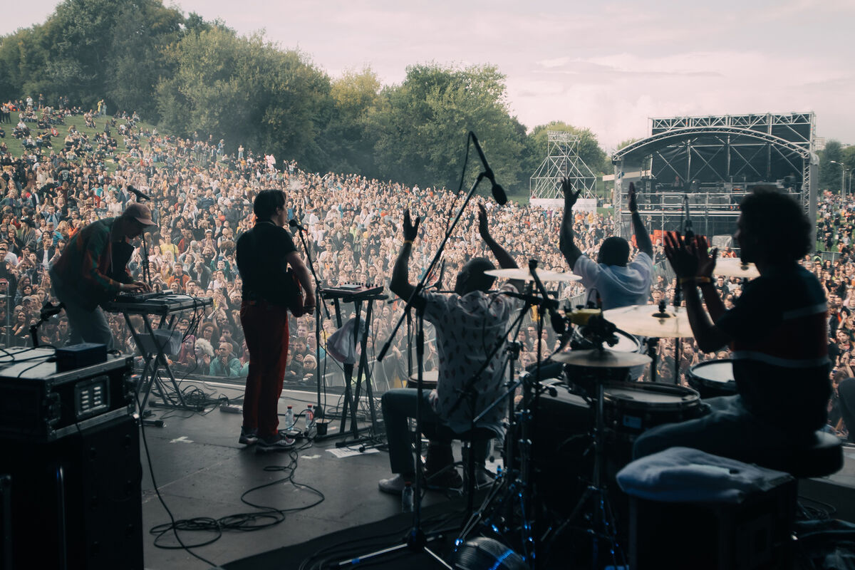
[[[622,235],[632,233],[627,191],[634,182],[648,229],[681,228],[685,197],[695,232],[729,235],[754,185],[775,185],[817,216],[816,115],[652,118],[651,134],[612,155],[613,203]]]

